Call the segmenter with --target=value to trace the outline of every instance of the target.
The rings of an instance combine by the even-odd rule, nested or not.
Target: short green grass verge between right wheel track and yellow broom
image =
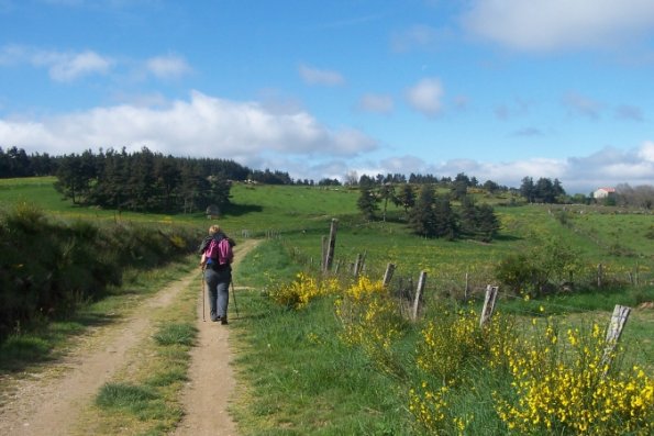
[[[232,328],[251,387],[234,407],[244,434],[411,434],[393,382],[340,343],[333,301],[295,312],[256,292],[242,295],[248,322]]]

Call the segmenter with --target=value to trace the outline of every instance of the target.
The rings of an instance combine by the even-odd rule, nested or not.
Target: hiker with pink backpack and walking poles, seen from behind
[[[200,267],[204,271],[204,281],[209,288],[209,316],[211,321],[220,321],[223,325],[228,324],[234,245],[235,243],[220,230],[220,226],[214,224],[209,227],[209,236],[202,241],[199,248],[202,255]]]

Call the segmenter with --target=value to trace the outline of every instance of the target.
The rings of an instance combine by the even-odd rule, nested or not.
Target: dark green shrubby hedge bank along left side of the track
[[[25,203],[0,211],[0,339],[35,320],[70,315],[119,286],[125,268],[163,265],[197,243],[189,227],[55,222]]]

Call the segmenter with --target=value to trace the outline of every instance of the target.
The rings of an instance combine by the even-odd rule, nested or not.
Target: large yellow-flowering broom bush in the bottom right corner
[[[540,340],[506,350],[516,399],[495,398],[508,428],[520,434],[652,434],[654,381],[638,367],[610,371],[597,325],[589,335],[570,328],[564,339],[558,336],[547,323]]]

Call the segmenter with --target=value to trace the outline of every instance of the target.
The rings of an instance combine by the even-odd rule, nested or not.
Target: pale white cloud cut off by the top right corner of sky
[[[651,0],[474,0],[473,35],[522,51],[619,47],[654,29]]]

